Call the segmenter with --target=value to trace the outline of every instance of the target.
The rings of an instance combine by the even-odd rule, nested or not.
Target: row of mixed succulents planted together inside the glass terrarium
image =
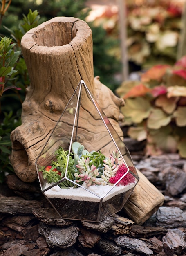
[[[43,178],[48,183],[52,183],[65,177],[67,169],[66,176],[69,180],[66,179],[60,182],[58,185],[61,188],[77,187],[77,184],[82,185],[83,183],[86,184],[87,188],[91,185],[102,184],[113,186],[124,175],[125,168],[119,165],[121,157],[119,157],[118,151],[113,151],[109,158],[106,158],[100,151],[89,152],[79,142],[74,142],[70,155],[69,151],[65,151],[62,147],[59,147],[55,154],[57,161],[52,161],[51,166],[41,167],[39,171],[43,172]],[[119,168],[120,172],[114,178]],[[112,182],[110,182],[110,179]]]

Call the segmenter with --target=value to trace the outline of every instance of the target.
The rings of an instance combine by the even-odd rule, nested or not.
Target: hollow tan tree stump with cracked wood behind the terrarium
[[[119,109],[124,106],[124,101],[103,85],[99,77],[94,78],[92,31],[86,22],[72,17],[53,18],[28,31],[22,37],[21,47],[30,85],[22,104],[22,125],[11,132],[11,163],[22,181],[33,182],[37,179],[35,161],[81,80],[85,81],[123,139],[118,121],[123,118]],[[140,201],[138,205],[142,205],[141,195],[146,191],[149,203],[144,212],[148,218],[164,199],[147,179],[143,183],[145,187],[137,184],[135,193]],[[153,195],[147,193],[151,186]],[[153,200],[148,200],[151,196]],[[132,214],[137,212],[138,205],[135,205]],[[130,210],[128,212],[130,215]],[[145,219],[144,212],[139,212],[137,222]],[[133,216],[130,217],[133,219]]]

